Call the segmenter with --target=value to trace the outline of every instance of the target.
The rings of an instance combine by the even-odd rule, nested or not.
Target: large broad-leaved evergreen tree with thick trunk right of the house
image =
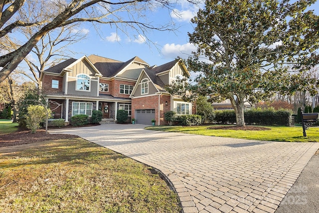
[[[197,51],[185,62],[198,73],[196,84],[175,82],[170,91],[186,100],[195,93],[230,99],[237,125],[244,126],[245,101],[314,89],[316,79],[301,78],[319,59],[319,16],[307,10],[314,2],[206,0],[191,20],[196,27],[189,38]]]

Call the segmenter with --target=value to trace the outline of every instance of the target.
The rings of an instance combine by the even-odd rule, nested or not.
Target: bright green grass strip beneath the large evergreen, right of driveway
[[[213,126],[213,125],[211,125]],[[212,130],[210,126],[160,126],[146,127],[148,130],[180,132],[195,135],[208,135],[227,138],[242,138],[262,141],[286,141],[286,142],[319,142],[319,128],[310,127],[306,130],[307,137],[303,137],[302,127],[270,127],[265,131],[244,131],[244,130]]]

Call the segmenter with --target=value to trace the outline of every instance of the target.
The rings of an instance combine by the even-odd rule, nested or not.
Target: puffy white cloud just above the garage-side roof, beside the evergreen
[[[191,55],[192,51],[196,51],[196,47],[189,42],[185,44],[166,43],[161,49],[161,53],[165,58],[187,57]]]

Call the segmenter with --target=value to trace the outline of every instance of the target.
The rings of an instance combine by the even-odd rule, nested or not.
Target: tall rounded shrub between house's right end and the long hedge
[[[202,123],[212,123],[215,118],[214,107],[206,97],[200,96],[196,100],[196,114],[202,118]]]

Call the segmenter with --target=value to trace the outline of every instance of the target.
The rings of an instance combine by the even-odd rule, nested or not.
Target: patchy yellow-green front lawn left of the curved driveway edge
[[[80,138],[0,148],[0,212],[179,213],[151,167]]]

